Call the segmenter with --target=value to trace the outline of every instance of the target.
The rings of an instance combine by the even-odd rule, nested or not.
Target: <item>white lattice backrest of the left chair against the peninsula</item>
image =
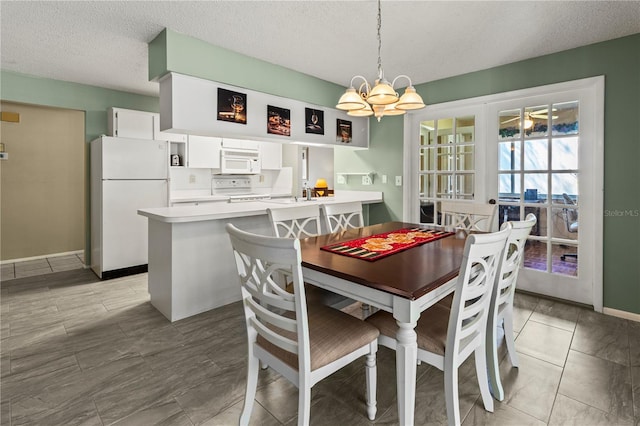
[[[317,204],[267,209],[273,232],[280,238],[307,238],[321,234],[320,209]]]

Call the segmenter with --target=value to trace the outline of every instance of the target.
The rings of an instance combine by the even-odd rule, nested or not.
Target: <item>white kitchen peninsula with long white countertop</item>
[[[177,321],[240,300],[227,223],[273,235],[267,208],[350,201],[380,203],[382,192],[337,191],[334,197],[312,201],[276,198],[138,210],[148,218],[151,304],[170,321]]]

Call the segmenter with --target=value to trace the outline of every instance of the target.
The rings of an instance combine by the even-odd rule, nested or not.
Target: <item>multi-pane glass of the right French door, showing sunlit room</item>
[[[498,221],[538,223],[525,249],[524,265],[578,276],[577,100],[523,106],[498,113]]]

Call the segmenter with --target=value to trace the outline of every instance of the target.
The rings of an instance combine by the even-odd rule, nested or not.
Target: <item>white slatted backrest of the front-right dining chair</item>
[[[507,227],[467,237],[451,305],[446,357],[454,357],[469,344],[484,344],[491,294],[509,233]]]

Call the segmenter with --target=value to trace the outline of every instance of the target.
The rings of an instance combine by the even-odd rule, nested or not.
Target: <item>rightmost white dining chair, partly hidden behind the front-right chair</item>
[[[508,226],[507,224],[510,224],[511,233],[507,239],[507,246],[504,251],[500,270],[496,274],[496,283],[491,296],[489,321],[487,325],[489,379],[491,381],[493,396],[499,401],[504,399],[504,390],[502,388],[498,366],[497,328],[500,326],[500,323],[502,323],[511,365],[518,367],[518,355],[516,353],[513,335],[513,297],[518,281],[518,272],[524,259],[524,246],[536,221],[536,216],[533,213],[529,213],[525,220],[505,222],[501,227],[501,229],[505,229]]]

